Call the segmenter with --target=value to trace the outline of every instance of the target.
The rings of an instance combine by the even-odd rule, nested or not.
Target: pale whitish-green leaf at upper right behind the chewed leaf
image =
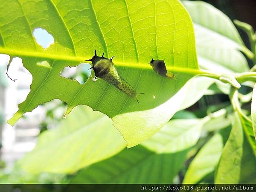
[[[192,17],[198,61],[201,67],[217,73],[244,72],[248,64],[238,50],[253,54],[244,46],[232,21],[203,1],[182,1]]]

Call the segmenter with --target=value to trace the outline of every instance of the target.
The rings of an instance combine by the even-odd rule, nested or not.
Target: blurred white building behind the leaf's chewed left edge
[[[40,132],[38,125],[44,119],[44,108],[39,106],[32,113],[27,113],[14,127],[6,123],[6,119],[17,111],[17,104],[29,93],[32,76],[23,67],[21,59],[14,58],[9,68],[9,75],[17,79],[13,82],[6,76],[9,56],[0,55],[0,61],[1,160],[8,169],[15,160],[34,148]]]

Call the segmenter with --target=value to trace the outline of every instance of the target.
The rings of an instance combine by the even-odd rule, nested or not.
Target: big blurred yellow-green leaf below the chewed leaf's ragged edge
[[[89,107],[78,106],[57,128],[44,131],[35,149],[19,165],[33,174],[72,173],[123,148],[125,141],[111,119]]]

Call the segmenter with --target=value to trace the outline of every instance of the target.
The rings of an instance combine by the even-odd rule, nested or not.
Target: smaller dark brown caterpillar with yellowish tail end
[[[153,70],[159,74],[160,76],[164,76],[167,78],[174,78],[175,76],[173,73],[170,73],[166,70],[166,64],[164,63],[163,60],[152,60],[149,62],[149,64],[153,67]]]

